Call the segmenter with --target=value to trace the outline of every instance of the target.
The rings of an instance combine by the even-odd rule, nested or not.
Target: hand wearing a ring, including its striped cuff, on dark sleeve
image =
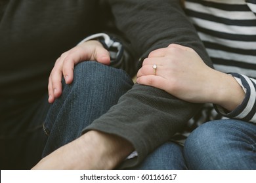
[[[157,64],[154,75],[152,65]],[[213,103],[228,118],[256,122],[256,80],[205,65],[191,48],[171,44],[144,60],[137,82],[192,103]]]

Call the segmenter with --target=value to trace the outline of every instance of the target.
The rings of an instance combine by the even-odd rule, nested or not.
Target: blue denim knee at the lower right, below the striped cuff
[[[188,169],[256,169],[256,125],[217,120],[200,125],[184,144]]]

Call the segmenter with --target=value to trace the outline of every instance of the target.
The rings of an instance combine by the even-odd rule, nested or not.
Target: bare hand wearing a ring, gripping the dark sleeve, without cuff
[[[157,65],[154,73],[153,65]],[[208,67],[192,49],[170,44],[150,53],[137,74],[137,82],[154,86],[192,103],[215,103],[233,110],[244,99],[236,80]]]

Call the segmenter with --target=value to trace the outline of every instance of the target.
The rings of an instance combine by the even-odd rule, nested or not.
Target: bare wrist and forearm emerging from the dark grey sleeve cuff
[[[133,149],[121,137],[89,131],[41,159],[33,169],[114,169]]]

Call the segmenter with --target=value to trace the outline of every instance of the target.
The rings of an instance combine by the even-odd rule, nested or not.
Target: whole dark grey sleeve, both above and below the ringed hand
[[[151,50],[177,43],[194,48],[203,61],[211,65],[179,1],[108,2],[117,27],[130,39],[133,49],[141,58],[146,58]],[[199,108],[198,104],[182,101],[158,88],[135,84],[119,99],[117,105],[95,120],[83,133],[86,135],[90,130],[97,130],[131,142],[139,154],[138,158],[125,161],[123,166],[131,167],[182,129]]]

